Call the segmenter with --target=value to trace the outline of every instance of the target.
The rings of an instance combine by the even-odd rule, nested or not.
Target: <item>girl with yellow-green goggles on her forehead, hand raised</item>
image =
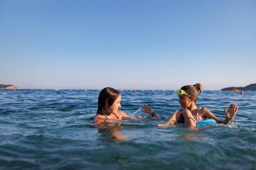
[[[206,118],[214,119],[218,123],[229,124],[238,111],[236,103],[230,104],[228,110],[224,108],[226,118],[224,120],[220,120],[220,118],[214,116],[213,113],[211,113],[211,111],[209,111],[209,109],[206,107],[196,106],[196,99],[201,93],[201,90],[201,83],[197,83],[195,85],[186,85],[178,89],[177,94],[179,95],[179,102],[182,108],[175,111],[165,125],[184,123],[188,126],[196,126],[197,122],[205,120]],[[148,105],[143,105],[142,109],[144,109],[144,112],[148,114],[155,113]]]

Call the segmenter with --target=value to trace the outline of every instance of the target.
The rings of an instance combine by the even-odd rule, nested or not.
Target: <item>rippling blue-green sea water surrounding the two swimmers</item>
[[[230,124],[164,124],[173,90],[119,90],[130,118],[95,124],[101,89],[0,90],[0,170],[256,170],[256,92],[202,91],[198,107]],[[148,104],[159,117],[142,112]]]

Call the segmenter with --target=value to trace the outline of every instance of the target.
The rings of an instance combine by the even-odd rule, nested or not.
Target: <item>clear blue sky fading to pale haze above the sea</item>
[[[256,0],[0,0],[0,84],[202,90],[256,83]]]

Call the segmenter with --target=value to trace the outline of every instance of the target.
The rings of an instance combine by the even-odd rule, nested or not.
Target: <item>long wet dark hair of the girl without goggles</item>
[[[97,114],[109,116],[107,108],[113,105],[119,94],[121,93],[118,90],[111,87],[102,89],[99,93]]]

